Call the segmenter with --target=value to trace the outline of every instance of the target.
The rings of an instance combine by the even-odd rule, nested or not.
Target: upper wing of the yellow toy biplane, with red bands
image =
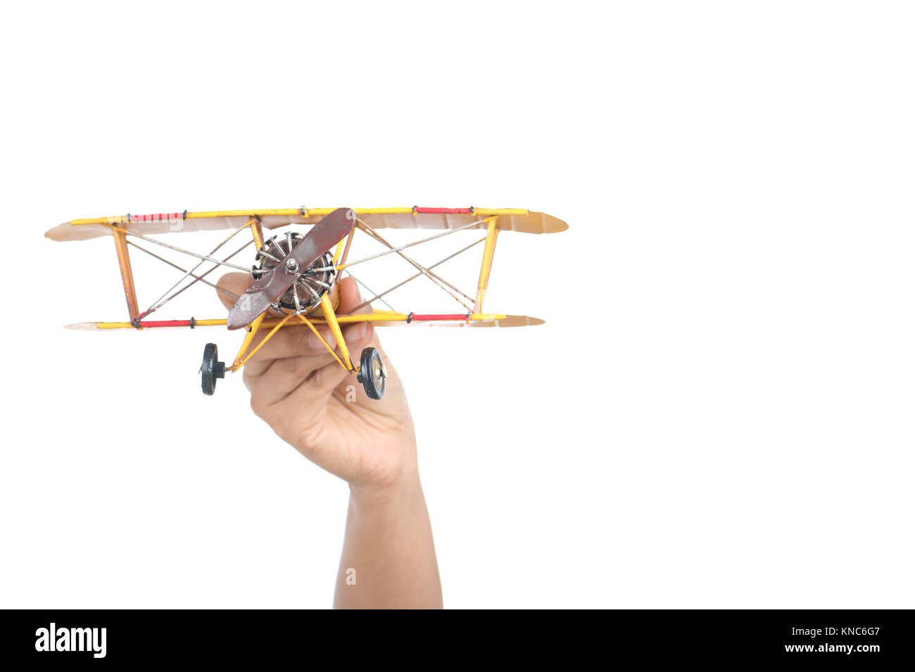
[[[51,240],[87,240],[110,234],[112,224],[136,233],[237,229],[253,217],[268,229],[276,229],[288,224],[317,224],[335,209],[222,210],[73,219],[50,229],[45,236]],[[356,208],[356,214],[372,229],[457,229],[474,221],[479,221],[479,226],[468,229],[485,229],[482,220],[493,215],[499,216],[500,230],[556,233],[568,229],[562,219],[518,208]]]

